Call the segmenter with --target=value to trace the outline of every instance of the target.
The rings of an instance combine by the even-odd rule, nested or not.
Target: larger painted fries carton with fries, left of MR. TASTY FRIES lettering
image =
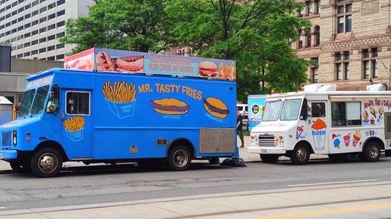
[[[112,86],[110,80],[108,80],[103,84],[102,92],[110,110],[119,118],[133,115],[136,103],[135,84],[132,82],[128,84],[126,81],[115,81],[114,86]]]

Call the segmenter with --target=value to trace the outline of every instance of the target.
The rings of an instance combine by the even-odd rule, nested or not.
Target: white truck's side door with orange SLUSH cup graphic
[[[312,149],[315,154],[328,153],[328,132],[330,124],[327,123],[326,101],[312,100],[311,102],[311,111],[312,119],[310,123],[310,139]]]

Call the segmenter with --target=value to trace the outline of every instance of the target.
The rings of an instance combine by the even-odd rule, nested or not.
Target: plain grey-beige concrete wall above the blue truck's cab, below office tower
[[[64,67],[64,61],[32,60],[32,59],[21,59],[21,58],[11,59],[11,71],[17,73],[32,74],[54,67],[60,67],[60,68]]]

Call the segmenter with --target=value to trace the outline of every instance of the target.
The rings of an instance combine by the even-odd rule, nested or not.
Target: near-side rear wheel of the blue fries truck
[[[182,145],[173,146],[167,158],[167,167],[173,171],[187,170],[191,163],[191,153]]]

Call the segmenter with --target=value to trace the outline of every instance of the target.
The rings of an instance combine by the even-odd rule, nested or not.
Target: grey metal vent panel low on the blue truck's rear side
[[[234,153],[235,128],[200,128],[200,153]]]

